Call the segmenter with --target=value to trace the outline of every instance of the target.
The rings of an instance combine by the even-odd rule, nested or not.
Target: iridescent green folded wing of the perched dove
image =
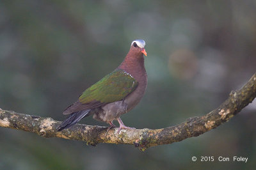
[[[115,70],[86,89],[79,97],[79,102],[88,104],[120,101],[134,91],[137,86],[138,82],[129,73],[124,70]]]

